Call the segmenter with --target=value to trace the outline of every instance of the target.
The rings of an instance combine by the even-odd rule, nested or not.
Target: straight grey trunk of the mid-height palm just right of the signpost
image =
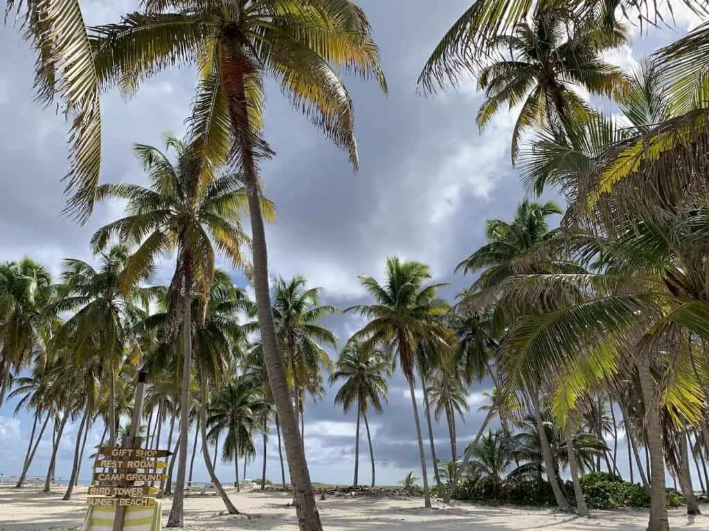
[[[186,245],[186,247],[189,247]],[[187,275],[185,275],[187,276]],[[177,485],[172,497],[172,508],[166,527],[182,527],[184,513],[184,479],[187,472],[187,437],[189,435],[189,382],[192,372],[192,315],[191,282],[185,279],[182,294],[182,389],[180,391],[179,456],[177,459]],[[196,437],[196,435],[195,435]]]

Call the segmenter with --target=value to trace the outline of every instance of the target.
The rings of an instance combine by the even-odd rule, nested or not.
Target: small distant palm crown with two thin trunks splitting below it
[[[384,372],[389,362],[379,350],[372,346],[356,342],[348,342],[337,358],[335,372],[330,375],[330,384],[340,379],[345,380],[342,387],[335,394],[335,404],[342,404],[342,409],[348,413],[354,404],[357,404],[357,428],[354,435],[354,479],[352,484],[357,486],[359,473],[359,418],[364,418],[364,428],[367,430],[367,443],[369,444],[369,459],[372,462],[372,487],[374,487],[374,450],[372,448],[372,435],[369,433],[367,422],[367,409],[372,406],[375,413],[384,410],[381,401],[386,401],[386,384]]]

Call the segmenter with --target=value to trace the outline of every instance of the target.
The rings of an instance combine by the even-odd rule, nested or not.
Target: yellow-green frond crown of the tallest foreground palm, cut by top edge
[[[272,153],[260,139],[263,77],[272,76],[294,107],[357,166],[352,101],[336,69],[372,77],[384,91],[386,81],[369,22],[352,1],[247,0],[225,9],[218,2],[149,0],[145,11],[91,29],[102,87],[118,85],[131,94],[173,64],[196,64],[201,81],[191,130],[203,138],[206,156],[223,162],[236,148],[231,135],[240,125],[238,134],[251,135],[255,152],[237,159]],[[230,115],[234,106],[225,91],[233,93],[242,81],[248,116]]]

